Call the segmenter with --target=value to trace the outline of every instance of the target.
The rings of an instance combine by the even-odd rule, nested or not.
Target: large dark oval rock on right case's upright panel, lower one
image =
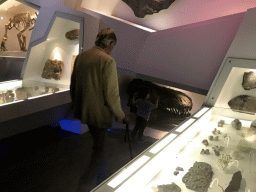
[[[256,98],[248,95],[239,95],[228,102],[228,105],[233,110],[255,113]]]

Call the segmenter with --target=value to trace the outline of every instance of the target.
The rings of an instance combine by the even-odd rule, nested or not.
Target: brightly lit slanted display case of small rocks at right
[[[255,66],[228,58],[198,112],[92,191],[256,191]]]

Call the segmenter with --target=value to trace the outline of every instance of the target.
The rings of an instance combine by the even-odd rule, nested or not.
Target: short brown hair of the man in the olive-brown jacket
[[[107,47],[106,40],[113,40],[116,44],[117,39],[113,29],[102,29],[97,35],[95,45],[104,49]]]

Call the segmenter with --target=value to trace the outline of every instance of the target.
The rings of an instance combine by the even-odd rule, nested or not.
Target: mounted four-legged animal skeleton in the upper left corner
[[[5,33],[2,38],[1,42],[1,51],[8,51],[7,48],[5,47],[5,43],[8,39],[7,32],[8,30],[11,30],[12,28],[17,29],[19,32],[17,34],[18,36],[18,41],[20,44],[20,50],[21,51],[27,51],[26,50],[26,36],[23,34],[25,31],[27,31],[32,25],[32,28],[29,29],[32,30],[34,28],[34,24],[37,19],[37,13],[35,16],[31,16],[29,12],[26,13],[18,13],[14,15],[12,18],[9,19],[9,23],[5,25]],[[23,25],[23,29],[20,29],[20,24]]]

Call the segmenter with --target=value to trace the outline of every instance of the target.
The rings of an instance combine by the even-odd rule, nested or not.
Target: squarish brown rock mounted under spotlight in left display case
[[[53,78],[55,80],[60,80],[63,68],[64,64],[62,61],[48,59],[45,62],[41,77],[45,79]]]

